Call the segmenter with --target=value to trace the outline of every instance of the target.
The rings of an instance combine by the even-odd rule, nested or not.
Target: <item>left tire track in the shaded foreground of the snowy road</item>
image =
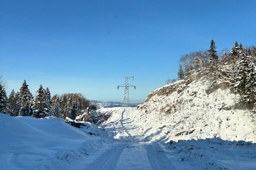
[[[100,157],[90,163],[85,170],[113,170],[118,162],[118,159],[127,144],[121,144],[110,148],[110,150],[104,152]]]

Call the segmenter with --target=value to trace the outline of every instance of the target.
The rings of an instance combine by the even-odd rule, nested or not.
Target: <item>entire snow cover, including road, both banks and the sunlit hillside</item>
[[[101,127],[0,113],[0,167],[256,169],[255,114],[238,99],[201,78],[159,88],[138,108],[99,109],[111,115]]]

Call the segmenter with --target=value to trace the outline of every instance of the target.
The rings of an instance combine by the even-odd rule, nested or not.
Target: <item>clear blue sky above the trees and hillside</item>
[[[179,58],[216,42],[256,45],[256,1],[0,1],[0,74],[7,92],[26,79],[51,94],[131,102],[177,77]]]

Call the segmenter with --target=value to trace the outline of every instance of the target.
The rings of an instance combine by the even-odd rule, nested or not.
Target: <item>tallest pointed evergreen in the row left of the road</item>
[[[28,89],[28,84],[26,80],[24,80],[22,87],[19,89],[19,116],[32,116],[32,99],[33,96]]]

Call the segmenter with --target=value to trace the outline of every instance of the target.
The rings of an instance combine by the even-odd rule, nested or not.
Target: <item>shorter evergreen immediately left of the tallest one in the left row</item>
[[[19,114],[19,105],[18,105],[18,97],[14,90],[11,91],[8,101],[7,101],[7,112],[10,116],[18,116]]]

